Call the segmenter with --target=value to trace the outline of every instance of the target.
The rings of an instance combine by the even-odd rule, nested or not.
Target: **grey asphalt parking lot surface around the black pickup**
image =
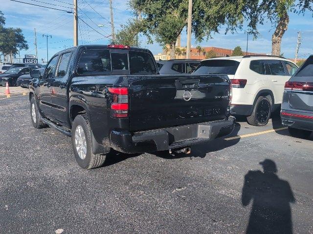
[[[1,99],[0,233],[313,233],[313,136],[281,128],[239,119],[191,155],[112,152],[86,171],[69,137],[32,127],[27,96]]]

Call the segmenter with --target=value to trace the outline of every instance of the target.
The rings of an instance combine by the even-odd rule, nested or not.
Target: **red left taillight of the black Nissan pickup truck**
[[[111,104],[112,117],[125,118],[128,117],[128,88],[116,87],[108,88],[113,94],[113,102]]]

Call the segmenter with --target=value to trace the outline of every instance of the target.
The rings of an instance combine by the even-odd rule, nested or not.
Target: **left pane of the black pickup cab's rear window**
[[[77,74],[81,76],[110,75],[110,50],[86,49],[82,52],[78,64]]]

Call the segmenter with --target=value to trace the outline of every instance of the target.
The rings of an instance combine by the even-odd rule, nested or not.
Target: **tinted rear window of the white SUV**
[[[212,59],[201,61],[193,74],[227,74],[235,75],[239,66],[238,61],[227,59]]]

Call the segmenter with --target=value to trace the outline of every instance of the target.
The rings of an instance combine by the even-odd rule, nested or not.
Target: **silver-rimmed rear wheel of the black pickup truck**
[[[80,167],[89,170],[103,166],[106,155],[94,155],[91,150],[91,130],[86,114],[76,116],[73,121],[72,147]]]

